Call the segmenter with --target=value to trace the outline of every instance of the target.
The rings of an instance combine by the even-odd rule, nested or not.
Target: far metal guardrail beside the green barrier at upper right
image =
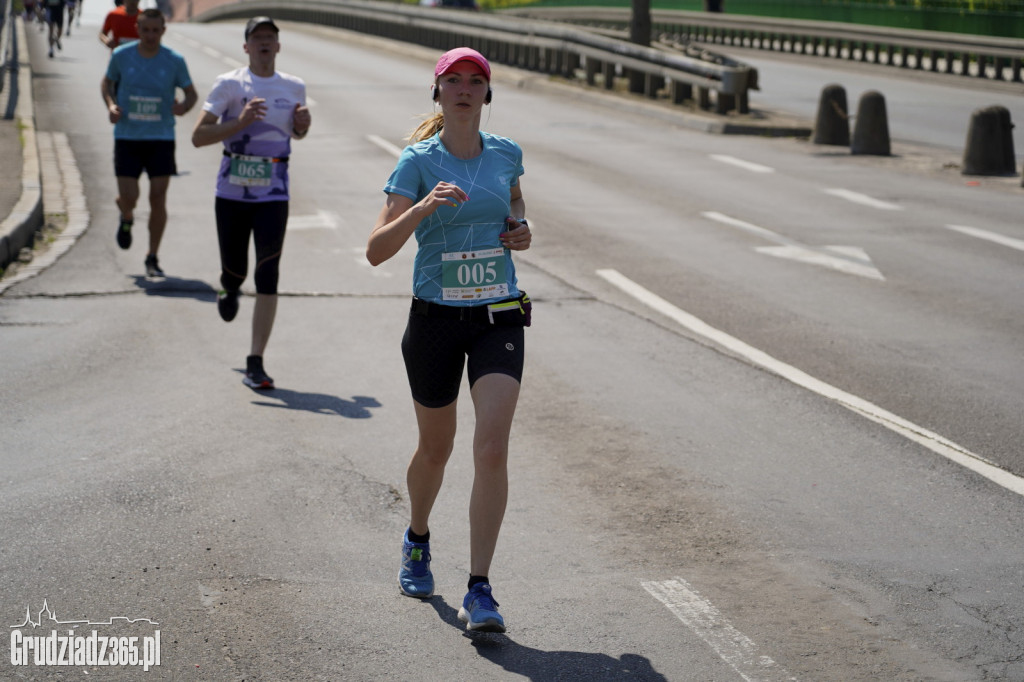
[[[504,13],[621,32],[628,8],[537,7]],[[1021,82],[1024,40],[838,22],[683,10],[651,11],[653,35],[671,45],[702,43],[852,59],[901,69]]]

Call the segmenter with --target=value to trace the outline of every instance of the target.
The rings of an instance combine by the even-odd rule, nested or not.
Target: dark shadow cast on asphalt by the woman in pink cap
[[[434,595],[428,602],[441,621],[459,630],[464,628],[459,621],[459,610],[450,606],[442,597]],[[507,635],[466,632],[464,636],[471,640],[481,656],[529,680],[668,682],[668,678],[655,671],[646,656],[636,653],[624,653],[615,658],[606,653],[544,651],[518,644]]]

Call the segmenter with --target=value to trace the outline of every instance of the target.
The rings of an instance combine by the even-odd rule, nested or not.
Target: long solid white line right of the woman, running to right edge
[[[950,462],[955,462],[956,464],[984,476],[993,483],[1001,485],[1012,493],[1024,496],[1024,478],[1000,469],[995,464],[989,462],[980,455],[976,455],[968,449],[957,445],[937,433],[929,431],[928,429],[918,426],[902,417],[883,410],[872,402],[868,402],[863,398],[859,398],[856,395],[847,393],[846,391],[830,384],[826,384],[823,381],[815,379],[792,365],[786,365],[785,363],[775,359],[768,353],[758,350],[757,348],[743,343],[739,339],[715,329],[702,319],[677,308],[672,303],[669,303],[664,298],[647,291],[616,270],[601,269],[597,270],[597,274],[615,287],[618,287],[627,294],[633,296],[641,303],[649,306],[657,312],[660,312],[671,319],[674,319],[679,325],[685,327],[694,334],[702,336],[732,351],[733,353],[736,353],[751,364],[764,368],[769,372],[772,372],[779,377],[801,386],[802,388],[806,388],[807,390],[813,391],[818,395],[835,400],[844,408],[847,408],[862,417],[866,417],[872,422],[881,424],[882,426],[885,426],[886,428],[924,445],[933,453],[946,458]]]

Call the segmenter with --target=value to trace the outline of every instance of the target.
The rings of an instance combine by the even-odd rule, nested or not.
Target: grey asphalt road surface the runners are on
[[[496,66],[483,126],[525,153],[536,307],[490,574],[509,631],[471,636],[471,406],[432,518],[437,594],[401,597],[413,254],[362,255],[436,54],[283,26],[313,127],[279,388],[257,393],[252,296],[216,312],[198,110],[167,279],[115,244],[96,16],[54,59],[30,31],[44,182],[84,195],[88,228],[0,297],[0,613],[26,636],[159,631],[161,658],[0,678],[1024,679],[1019,177],[966,178],[954,144],[913,135],[854,158],[702,134]],[[242,33],[165,41],[203,97]],[[838,76],[803,78],[786,87],[813,101]]]

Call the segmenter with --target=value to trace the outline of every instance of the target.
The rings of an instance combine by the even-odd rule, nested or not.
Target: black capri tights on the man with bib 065
[[[288,202],[237,202],[217,197],[217,241],[220,243],[220,284],[238,291],[249,271],[249,235],[256,245],[253,282],[257,294],[276,294],[281,252],[288,226]]]

